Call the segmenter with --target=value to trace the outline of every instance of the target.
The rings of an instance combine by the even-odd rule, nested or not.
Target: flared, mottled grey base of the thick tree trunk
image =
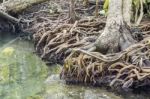
[[[97,51],[103,54],[120,52],[136,43],[126,23],[108,24],[95,43]]]

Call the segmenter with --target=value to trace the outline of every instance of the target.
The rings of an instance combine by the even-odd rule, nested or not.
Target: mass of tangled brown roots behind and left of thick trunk
[[[95,42],[105,26],[106,19],[102,16],[99,18],[85,16],[86,12],[89,13],[88,9],[80,10],[83,9],[83,5],[77,3],[79,5],[76,5],[76,13],[80,20],[71,24],[68,18],[69,9],[66,7],[69,5],[68,1],[56,1],[46,2],[43,8],[38,7],[38,11],[24,15],[30,22],[23,28],[34,33],[36,52],[49,64],[62,63],[72,48],[88,49],[85,46],[90,47]],[[57,11],[51,14],[50,10]]]

